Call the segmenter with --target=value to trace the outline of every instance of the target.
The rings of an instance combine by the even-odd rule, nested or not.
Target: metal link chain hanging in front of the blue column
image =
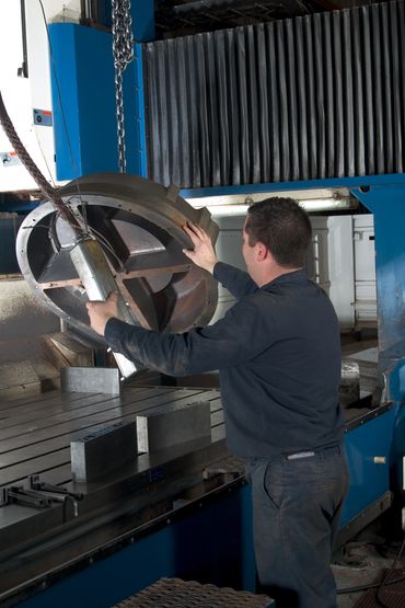
[[[117,108],[118,167],[126,170],[123,72],[134,59],[132,20],[130,0],[112,0],[113,57],[115,69],[115,102]]]

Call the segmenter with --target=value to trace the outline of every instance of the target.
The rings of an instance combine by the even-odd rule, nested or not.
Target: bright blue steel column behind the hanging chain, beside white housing
[[[94,172],[118,172],[112,36],[72,23],[49,26],[51,81],[58,180]],[[128,173],[144,174],[140,151],[144,140],[137,118],[136,95],[143,97],[139,57],[124,72],[125,128]],[[137,70],[137,76],[136,76]],[[139,104],[143,112],[142,103]],[[136,117],[136,119],[134,119]],[[68,136],[67,136],[68,134]]]

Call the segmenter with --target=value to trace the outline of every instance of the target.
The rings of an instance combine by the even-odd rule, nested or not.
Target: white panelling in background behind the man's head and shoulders
[[[219,259],[244,269],[241,252],[244,216],[216,216],[215,219],[220,227]],[[372,214],[311,215],[310,219],[313,242],[308,272],[328,294],[342,332],[377,329]],[[233,303],[234,298],[220,285],[212,322],[223,317]]]

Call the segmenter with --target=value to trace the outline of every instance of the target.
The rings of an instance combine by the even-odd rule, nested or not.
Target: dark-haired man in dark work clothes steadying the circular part
[[[347,490],[342,454],[339,330],[303,265],[311,225],[289,198],[250,207],[247,273],[217,260],[209,237],[185,228],[184,253],[238,302],[213,325],[159,334],[117,320],[117,296],[89,302],[91,324],[115,352],[164,374],[219,369],[227,440],[247,461],[262,590],[282,608],[335,608],[329,566]]]

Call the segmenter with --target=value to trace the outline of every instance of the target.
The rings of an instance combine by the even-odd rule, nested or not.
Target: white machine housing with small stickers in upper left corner
[[[80,0],[0,0],[0,91],[21,140],[50,182],[56,167],[45,19],[78,22],[80,16]],[[0,192],[32,190],[36,183],[0,128]]]

